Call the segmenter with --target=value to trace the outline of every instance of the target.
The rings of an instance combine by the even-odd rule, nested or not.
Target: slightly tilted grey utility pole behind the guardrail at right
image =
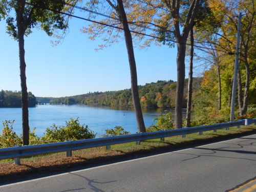
[[[240,47],[241,20],[242,20],[242,13],[239,13],[239,16],[238,16],[236,59],[234,60],[234,77],[233,77],[233,87],[232,87],[230,122],[234,121],[234,105],[235,105],[235,101],[236,101],[236,92],[237,92],[237,78],[238,78],[238,60],[239,60],[239,47]]]

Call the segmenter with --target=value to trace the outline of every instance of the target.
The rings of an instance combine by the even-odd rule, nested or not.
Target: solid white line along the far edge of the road
[[[241,137],[241,138],[246,138],[246,137],[249,137],[249,136],[245,136],[245,137]],[[232,141],[232,140],[236,140],[236,139],[239,139],[239,138],[234,138],[234,139],[230,139],[230,140],[226,140],[226,141]],[[226,141],[220,141],[220,142],[216,142],[216,143],[209,143],[209,144],[201,145],[200,147],[208,146],[208,145],[212,145],[212,144],[224,143],[224,142],[226,142]],[[197,148],[197,147],[192,147],[192,148]],[[183,151],[190,150],[190,149],[191,149],[191,148],[185,148],[185,149],[183,149],[183,150],[178,150],[178,151],[173,151],[173,152],[167,152],[167,153],[162,153],[162,154],[157,154],[157,155],[142,157],[142,158],[138,158],[138,159],[126,160],[126,161],[117,162],[117,163],[112,163],[112,164],[108,164],[108,165],[100,165],[100,166],[95,166],[95,167],[91,167],[91,168],[84,168],[84,169],[81,169],[81,170],[75,170],[74,172],[68,172],[68,173],[63,173],[63,174],[58,174],[58,175],[52,175],[52,176],[42,177],[42,178],[38,178],[38,179],[32,179],[32,180],[28,180],[28,181],[21,181],[21,182],[17,182],[17,183],[6,184],[6,185],[0,186],[0,188],[7,187],[7,186],[12,186],[12,185],[17,185],[17,184],[22,184],[22,183],[28,183],[28,182],[38,181],[38,180],[42,180],[42,179],[49,179],[49,178],[58,177],[58,176],[62,176],[62,175],[68,175],[68,174],[70,174],[70,173],[79,173],[79,172],[83,172],[83,171],[85,171],[85,170],[92,170],[92,169],[95,169],[95,168],[101,168],[101,167],[106,167],[106,166],[111,166],[111,165],[122,164],[122,163],[126,163],[126,162],[132,162],[132,161],[143,160],[143,159],[147,159],[147,158],[151,158],[151,157],[158,157],[158,156],[161,156],[161,155],[167,155],[167,154],[172,154],[172,153],[177,153],[177,152],[183,152]]]

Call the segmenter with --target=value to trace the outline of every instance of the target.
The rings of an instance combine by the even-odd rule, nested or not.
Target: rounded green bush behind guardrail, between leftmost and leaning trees
[[[44,143],[61,142],[67,140],[81,140],[95,138],[93,131],[88,129],[88,125],[80,125],[78,118],[70,118],[66,121],[66,126],[56,126],[53,124],[46,129],[45,135],[41,138]]]

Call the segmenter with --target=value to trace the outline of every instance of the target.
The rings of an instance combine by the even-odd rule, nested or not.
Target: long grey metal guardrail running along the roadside
[[[231,126],[249,125],[256,123],[256,119],[243,119],[234,122],[218,123],[212,125],[202,125],[196,127],[182,128],[176,130],[158,131],[138,133],[131,135],[104,137],[96,139],[85,139],[76,141],[66,141],[58,143],[27,145],[27,146],[15,146],[8,148],[0,148],[0,160],[23,158],[41,154],[58,153],[58,152],[70,152],[74,150],[81,150],[84,148],[92,148],[97,146],[108,146],[119,143],[141,141],[147,139],[164,138],[170,136],[185,135],[190,133],[204,132],[210,130],[218,130]]]

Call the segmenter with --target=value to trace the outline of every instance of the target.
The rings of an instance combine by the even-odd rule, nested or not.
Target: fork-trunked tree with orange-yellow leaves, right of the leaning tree
[[[186,42],[191,26],[193,26],[200,0],[154,0],[134,1],[132,11],[129,13],[130,23],[136,25],[136,31],[157,36],[145,40],[144,45],[155,41],[156,44],[177,46],[177,92],[175,102],[175,127],[182,127],[182,106],[185,81],[185,53]],[[141,26],[142,25],[142,26]],[[140,27],[141,26],[141,27]],[[140,36],[139,39],[143,38]]]

